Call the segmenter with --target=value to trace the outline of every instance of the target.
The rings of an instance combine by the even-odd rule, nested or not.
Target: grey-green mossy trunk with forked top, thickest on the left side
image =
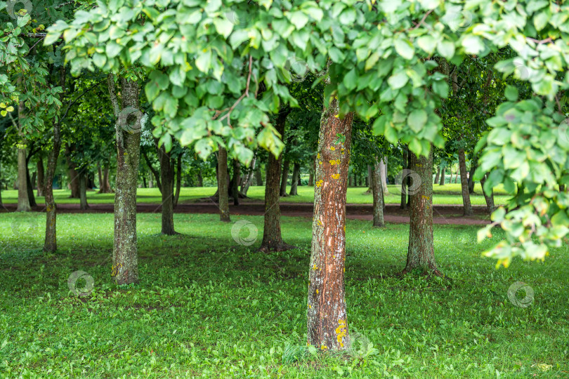
[[[136,246],[136,188],[138,163],[140,161],[140,133],[123,131],[119,124],[119,109],[138,109],[138,83],[121,79],[122,107],[119,108],[115,95],[115,81],[112,74],[107,84],[113,109],[117,133],[117,179],[115,183],[115,238],[112,251],[111,275],[117,284],[138,283],[138,251]],[[138,119],[135,122],[140,122]],[[140,130],[140,125],[135,126]]]

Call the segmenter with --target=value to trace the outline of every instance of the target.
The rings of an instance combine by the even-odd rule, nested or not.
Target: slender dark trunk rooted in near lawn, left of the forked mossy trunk
[[[63,101],[65,96],[65,66],[60,67],[60,101]],[[55,121],[57,120],[57,121]],[[53,253],[57,250],[57,233],[56,233],[56,220],[57,220],[57,207],[53,199],[53,177],[55,176],[55,168],[57,168],[59,151],[61,149],[61,135],[59,119],[53,121],[53,149],[48,154],[48,162],[46,168],[46,178],[44,180],[45,202],[46,202],[46,239],[44,241],[44,251]]]

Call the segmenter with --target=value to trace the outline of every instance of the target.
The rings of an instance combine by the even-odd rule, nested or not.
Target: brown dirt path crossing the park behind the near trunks
[[[15,211],[16,204],[5,204],[8,211]],[[58,213],[112,213],[113,204],[90,204],[87,211],[79,210],[79,204],[58,204]],[[159,204],[139,203],[136,206],[138,213],[159,213]],[[259,202],[243,202],[239,206],[230,205],[232,215],[263,215],[265,205]],[[485,225],[489,218],[485,206],[473,206],[474,216],[463,217],[462,206],[435,205],[433,206],[433,222],[435,224],[450,225]],[[45,211],[44,206],[37,206],[34,211]],[[217,204],[212,201],[178,204],[174,213],[218,213]],[[313,214],[313,204],[280,203],[280,213],[284,216],[307,217]],[[346,215],[351,219],[372,220],[371,204],[348,204]],[[409,222],[409,211],[403,211],[396,204],[388,204],[384,211],[386,222]]]

